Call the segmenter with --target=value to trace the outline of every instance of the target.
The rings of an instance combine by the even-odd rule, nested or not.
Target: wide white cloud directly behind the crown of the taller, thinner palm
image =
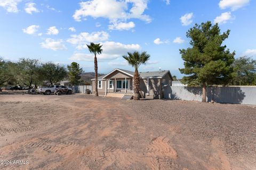
[[[105,43],[101,43],[101,45],[103,45],[102,54],[97,56],[101,61],[115,60],[116,58],[127,54],[127,52],[133,52],[141,49],[138,44],[125,45],[113,41],[107,41]],[[75,61],[93,61],[93,54],[75,53],[69,59]]]

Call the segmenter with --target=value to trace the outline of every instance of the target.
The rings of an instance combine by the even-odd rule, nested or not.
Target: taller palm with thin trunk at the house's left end
[[[91,43],[90,45],[87,45],[90,53],[94,54],[94,71],[95,71],[95,96],[99,96],[98,95],[98,62],[97,62],[97,54],[101,54],[102,53],[102,45],[100,44],[94,44]]]

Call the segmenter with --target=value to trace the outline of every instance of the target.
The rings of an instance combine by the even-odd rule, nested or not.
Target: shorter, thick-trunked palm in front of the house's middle
[[[123,58],[134,67],[135,72],[133,75],[133,99],[139,100],[140,99],[140,74],[139,74],[139,66],[141,64],[146,64],[149,60],[150,55],[147,52],[133,52],[127,53],[128,55],[124,55]]]

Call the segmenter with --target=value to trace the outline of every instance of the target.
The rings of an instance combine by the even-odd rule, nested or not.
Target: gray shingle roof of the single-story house
[[[131,75],[134,74],[134,72],[132,71],[129,71],[129,70],[124,70],[124,69],[119,69],[119,70],[122,70],[126,73],[129,73]],[[141,78],[147,78],[147,77],[150,77],[150,78],[157,78],[157,77],[164,77],[165,74],[167,74],[169,72],[169,70],[162,70],[162,71],[148,71],[148,72],[140,72],[140,77]],[[105,74],[107,75],[107,74]],[[101,75],[100,77],[98,77],[98,79],[102,79],[103,77],[105,77],[105,75]],[[94,80],[94,79],[92,79]]]

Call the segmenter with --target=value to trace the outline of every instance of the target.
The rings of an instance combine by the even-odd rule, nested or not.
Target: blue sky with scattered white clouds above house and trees
[[[222,31],[230,29],[225,44],[231,52],[256,59],[255,16],[254,0],[0,0],[0,56],[75,61],[91,72],[86,44],[93,41],[103,44],[100,73],[133,70],[122,55],[146,50],[151,58],[140,71],[161,67],[182,77],[179,49],[189,47],[186,31],[195,23],[218,22]]]

